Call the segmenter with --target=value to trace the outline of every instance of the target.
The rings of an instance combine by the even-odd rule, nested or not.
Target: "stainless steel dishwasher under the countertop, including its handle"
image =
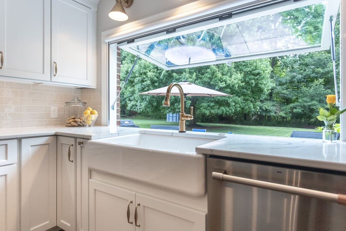
[[[208,157],[208,231],[345,231],[346,175],[315,170]]]

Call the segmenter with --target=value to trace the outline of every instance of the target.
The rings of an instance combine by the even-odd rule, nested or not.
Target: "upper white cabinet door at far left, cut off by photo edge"
[[[50,80],[50,0],[0,0],[0,6],[0,75]]]

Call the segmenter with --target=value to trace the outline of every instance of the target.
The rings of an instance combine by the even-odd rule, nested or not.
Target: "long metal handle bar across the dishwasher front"
[[[337,202],[338,204],[341,204],[341,205],[346,205],[346,195],[343,195],[343,194],[327,193],[327,192],[321,192],[321,191],[306,189],[306,188],[299,188],[299,187],[294,187],[289,185],[275,184],[275,183],[270,183],[270,182],[261,181],[261,180],[253,180],[253,179],[248,179],[243,177],[230,176],[230,175],[227,175],[227,172],[224,169],[214,169],[211,176],[212,176],[212,179],[214,180],[238,183],[242,185],[264,188],[264,189],[274,190],[274,191],[283,192],[283,193],[290,193],[290,194],[295,194],[299,196],[307,196],[307,197],[312,197],[316,199]]]

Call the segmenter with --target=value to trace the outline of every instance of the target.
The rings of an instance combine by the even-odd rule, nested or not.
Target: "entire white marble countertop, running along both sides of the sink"
[[[118,126],[50,126],[0,129],[0,140],[50,135],[62,135],[94,140],[146,130],[148,129]],[[162,134],[163,131],[165,130],[156,130],[157,134]],[[150,133],[153,132],[155,133],[155,129],[150,129]],[[171,135],[185,135],[189,137],[193,137],[193,134],[201,135],[201,132],[165,132]],[[209,132],[204,134],[206,136],[218,135],[218,133]],[[196,152],[221,157],[267,161],[346,172],[346,142],[323,143],[322,140],[318,139],[240,134],[222,134],[222,136],[225,138],[196,147]]]

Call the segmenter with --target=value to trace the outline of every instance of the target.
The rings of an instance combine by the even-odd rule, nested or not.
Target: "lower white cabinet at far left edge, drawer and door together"
[[[0,141],[0,231],[17,230],[17,140]]]

